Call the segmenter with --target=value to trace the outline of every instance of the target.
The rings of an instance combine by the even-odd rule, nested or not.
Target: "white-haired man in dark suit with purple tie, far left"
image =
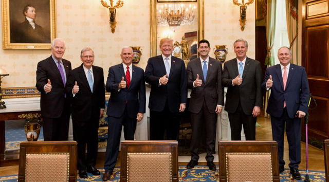
[[[70,102],[65,94],[66,78],[71,62],[62,59],[65,42],[54,39],[52,55],[38,63],[36,88],[41,92],[40,107],[45,141],[67,140],[70,119]]]

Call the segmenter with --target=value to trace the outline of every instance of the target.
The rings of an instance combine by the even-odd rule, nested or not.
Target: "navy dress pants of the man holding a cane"
[[[281,117],[271,116],[271,124],[273,140],[278,142],[279,166],[283,167],[285,165],[283,160],[283,140],[284,130],[286,130],[289,144],[289,168],[298,169],[301,161],[301,118],[289,118],[287,108],[285,107]]]

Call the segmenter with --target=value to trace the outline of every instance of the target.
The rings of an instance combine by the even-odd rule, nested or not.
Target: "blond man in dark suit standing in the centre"
[[[187,76],[184,61],[172,56],[173,40],[160,40],[160,56],[152,57],[144,78],[151,85],[149,100],[151,140],[178,140],[179,112],[187,102]]]

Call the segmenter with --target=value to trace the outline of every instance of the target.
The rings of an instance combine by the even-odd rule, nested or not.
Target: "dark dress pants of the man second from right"
[[[246,115],[243,112],[241,102],[239,102],[235,113],[228,113],[228,119],[230,120],[232,140],[241,140],[242,125],[246,140],[256,140],[257,117]]]

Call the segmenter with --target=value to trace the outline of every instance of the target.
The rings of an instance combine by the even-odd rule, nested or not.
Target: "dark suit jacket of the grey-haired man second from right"
[[[225,62],[222,77],[223,86],[227,87],[225,111],[234,113],[241,102],[246,115],[251,115],[254,106],[262,107],[263,72],[259,61],[247,57],[242,74],[242,84],[232,85],[232,80],[239,75],[236,58]]]

